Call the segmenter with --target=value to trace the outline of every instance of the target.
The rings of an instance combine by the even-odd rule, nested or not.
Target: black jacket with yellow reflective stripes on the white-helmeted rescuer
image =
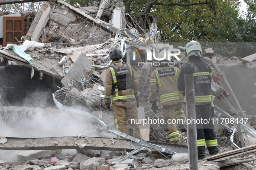
[[[211,67],[199,57],[190,57],[182,64],[178,77],[178,90],[185,95],[185,74],[194,75],[196,105],[211,104]],[[184,98],[184,102],[185,102]]]

